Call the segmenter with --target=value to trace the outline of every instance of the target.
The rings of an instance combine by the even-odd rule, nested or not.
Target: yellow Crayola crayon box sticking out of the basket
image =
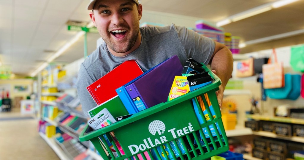
[[[169,93],[168,101],[171,101],[174,98],[184,95],[184,94],[188,93],[189,91],[190,91],[190,88],[189,88],[189,83],[188,83],[187,77],[175,76],[170,93]]]

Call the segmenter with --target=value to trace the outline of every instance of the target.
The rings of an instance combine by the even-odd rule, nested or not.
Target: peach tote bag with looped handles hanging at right
[[[284,70],[283,63],[278,62],[275,48],[268,59],[268,63],[262,66],[263,86],[265,89],[284,87]]]

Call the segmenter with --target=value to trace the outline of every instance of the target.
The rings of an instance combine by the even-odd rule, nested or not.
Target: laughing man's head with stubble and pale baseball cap
[[[116,53],[125,53],[139,35],[141,11],[141,5],[132,0],[99,0],[90,16],[108,47]]]

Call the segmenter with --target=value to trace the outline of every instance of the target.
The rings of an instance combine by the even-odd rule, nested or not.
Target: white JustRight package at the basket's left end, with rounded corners
[[[109,123],[115,123],[115,118],[111,115],[107,108],[102,109],[97,115],[88,120],[88,125],[93,130],[98,130]]]

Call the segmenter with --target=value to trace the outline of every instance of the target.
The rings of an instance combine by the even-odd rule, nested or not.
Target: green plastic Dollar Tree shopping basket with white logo
[[[213,78],[211,84],[95,131],[87,125],[79,139],[90,140],[105,160],[202,160],[228,151],[228,139],[216,97],[221,81],[205,65],[203,68]],[[206,93],[213,111],[206,107],[203,112],[199,105],[197,97],[201,96],[203,104],[209,106],[204,96]],[[193,106],[199,114],[195,114]],[[119,144],[115,143],[117,140]]]

